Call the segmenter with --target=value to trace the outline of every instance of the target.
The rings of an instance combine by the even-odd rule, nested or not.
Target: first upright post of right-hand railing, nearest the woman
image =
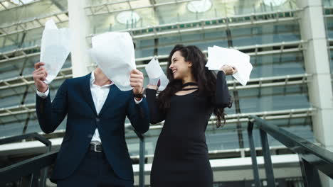
[[[261,187],[260,178],[259,178],[259,169],[257,163],[257,154],[255,152],[255,145],[253,140],[253,122],[248,121],[248,143],[250,145],[250,153],[252,159],[252,168],[253,168],[253,179],[255,181],[255,187]]]

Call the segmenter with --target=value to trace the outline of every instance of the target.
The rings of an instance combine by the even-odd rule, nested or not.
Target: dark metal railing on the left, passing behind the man
[[[129,128],[130,129],[130,128]],[[139,187],[144,187],[144,135],[134,131],[140,140],[139,147]],[[42,142],[48,147],[48,152],[23,162],[18,162],[10,166],[0,169],[0,186],[9,182],[18,181],[20,186],[46,186],[46,178],[48,177],[48,166],[56,161],[58,151],[51,152],[51,142],[46,137],[33,132],[26,135],[15,137],[7,137],[0,139],[0,145],[9,144],[11,142],[19,142],[21,140],[35,139]]]

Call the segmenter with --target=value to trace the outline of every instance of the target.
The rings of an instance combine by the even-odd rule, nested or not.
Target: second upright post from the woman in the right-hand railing
[[[260,140],[263,146],[263,157],[265,162],[265,173],[268,186],[275,186],[275,178],[273,173],[272,159],[270,157],[270,146],[268,145],[267,133],[260,129]]]

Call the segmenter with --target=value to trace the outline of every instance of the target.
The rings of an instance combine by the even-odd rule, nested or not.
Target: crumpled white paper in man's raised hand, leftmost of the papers
[[[41,40],[40,62],[45,63],[46,84],[50,84],[57,77],[61,67],[70,53],[70,30],[68,28],[58,29],[54,21],[48,20]]]

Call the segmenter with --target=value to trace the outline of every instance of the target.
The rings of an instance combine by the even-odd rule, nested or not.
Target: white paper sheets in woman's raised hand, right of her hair
[[[235,49],[218,47],[216,45],[208,47],[206,67],[210,70],[219,70],[225,64],[236,67],[238,72],[233,74],[233,77],[245,86],[253,69],[250,63],[250,56]]]

